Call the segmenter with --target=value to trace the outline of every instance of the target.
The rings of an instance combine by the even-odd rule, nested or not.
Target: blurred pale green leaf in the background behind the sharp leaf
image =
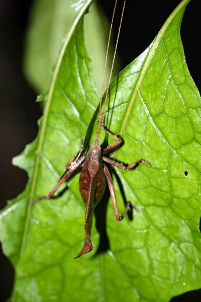
[[[52,67],[58,57],[66,30],[76,15],[75,0],[35,0],[29,18],[26,36],[24,72],[30,85],[41,93],[49,87]],[[81,2],[82,3],[82,2]],[[85,16],[84,31],[87,48],[93,58],[93,74],[98,91],[101,90],[109,33],[109,24],[104,14],[93,3]],[[113,49],[109,52],[109,66]],[[116,60],[115,72],[118,70]],[[118,72],[116,72],[118,73]],[[108,76],[106,83],[108,83]]]

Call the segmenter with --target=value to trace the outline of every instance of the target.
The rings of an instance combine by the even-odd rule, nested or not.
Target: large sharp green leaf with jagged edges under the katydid
[[[99,241],[93,221],[93,251],[73,260],[84,241],[79,175],[58,198],[29,206],[56,184],[98,103],[81,17],[91,2],[84,2],[61,49],[39,135],[14,160],[28,171],[29,183],[0,214],[4,253],[16,268],[12,301],[169,301],[200,287],[200,96],[180,40],[188,0],[110,86],[108,127],[124,140],[114,157],[152,163],[115,169],[139,213],[118,222],[109,200],[108,250],[93,257]],[[114,181],[123,212],[123,194]],[[97,226],[105,215],[99,211]]]

